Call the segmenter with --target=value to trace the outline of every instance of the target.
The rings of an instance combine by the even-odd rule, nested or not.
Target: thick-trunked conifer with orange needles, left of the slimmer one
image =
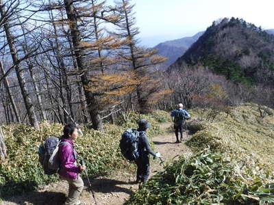
[[[101,93],[92,92],[92,78],[104,74],[105,69],[114,64],[113,57],[105,55],[103,51],[116,49],[121,42],[113,36],[105,36],[99,27],[101,23],[115,23],[119,16],[116,16],[106,5],[105,1],[72,1],[64,0],[63,4],[49,2],[45,10],[65,10],[66,18],[58,19],[61,26],[69,28],[69,39],[73,58],[75,58],[77,70],[75,75],[80,76],[84,87],[84,94],[95,129],[103,129],[99,111]],[[98,79],[98,78],[97,78]],[[94,86],[93,86],[94,87]]]

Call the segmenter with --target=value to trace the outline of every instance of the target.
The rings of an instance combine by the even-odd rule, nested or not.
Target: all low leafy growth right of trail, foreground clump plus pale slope
[[[167,165],[126,204],[272,204],[273,115],[262,118],[252,103],[220,113],[215,122],[191,115],[186,126],[195,134],[187,145],[197,154]]]

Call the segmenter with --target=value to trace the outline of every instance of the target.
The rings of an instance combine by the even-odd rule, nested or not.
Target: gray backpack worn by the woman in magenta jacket
[[[45,174],[51,175],[58,172],[60,169],[60,160],[58,157],[59,147],[68,143],[60,141],[58,137],[48,137],[44,143],[39,146],[39,162],[44,169]]]

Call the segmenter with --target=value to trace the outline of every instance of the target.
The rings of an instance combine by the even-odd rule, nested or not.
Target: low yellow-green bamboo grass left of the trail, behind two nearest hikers
[[[164,112],[156,112],[156,119]],[[139,115],[131,113],[131,118],[126,124],[116,126],[104,124],[105,131],[95,131],[81,126],[84,133],[75,142],[78,159],[86,162],[88,174],[106,174],[115,169],[133,170],[134,166],[121,156],[119,140],[121,133],[126,128],[137,127]],[[158,120],[152,115],[141,115],[151,122],[147,132],[149,137],[161,133]],[[40,131],[35,131],[31,126],[15,124],[3,126],[8,159],[0,164],[0,197],[14,195],[25,191],[32,191],[40,186],[59,180],[58,174],[47,176],[43,173],[38,163],[38,146],[47,137],[62,135],[62,124],[49,124],[42,122]]]

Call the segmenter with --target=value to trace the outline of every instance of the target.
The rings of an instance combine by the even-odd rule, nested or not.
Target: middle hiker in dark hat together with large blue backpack
[[[137,165],[136,183],[139,184],[139,189],[149,178],[149,154],[161,157],[160,152],[153,152],[149,146],[146,131],[150,126],[147,120],[139,120],[138,129],[127,129],[122,134],[119,145],[123,156]]]

